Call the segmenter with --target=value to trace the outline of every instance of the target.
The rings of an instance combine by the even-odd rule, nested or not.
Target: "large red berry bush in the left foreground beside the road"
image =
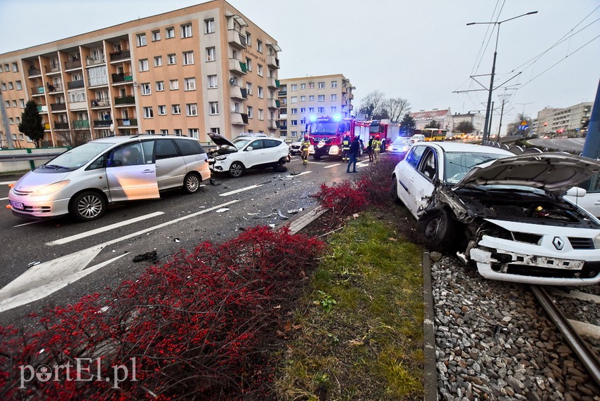
[[[270,397],[265,361],[281,305],[323,246],[286,228],[253,228],[48,310],[26,332],[0,327],[0,399]],[[34,375],[42,365],[48,380]]]

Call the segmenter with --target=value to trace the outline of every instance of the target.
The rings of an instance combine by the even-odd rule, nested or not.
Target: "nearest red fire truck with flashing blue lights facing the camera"
[[[315,160],[323,156],[342,157],[344,136],[354,139],[354,119],[342,119],[335,116],[311,117],[306,126],[310,144],[314,148]]]

